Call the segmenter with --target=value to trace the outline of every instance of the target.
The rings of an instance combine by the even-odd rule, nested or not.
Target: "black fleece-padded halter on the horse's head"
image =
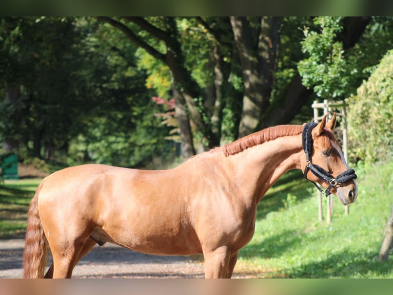
[[[311,152],[312,152],[312,143],[313,143],[311,131],[317,125],[318,125],[318,123],[311,122],[311,123],[307,123],[303,128],[302,143],[303,143],[304,153],[306,154],[306,167],[304,168],[304,178],[311,181],[312,184],[321,193],[324,193],[326,196],[328,196],[331,194],[330,190],[332,188],[337,188],[337,187],[341,186],[341,183],[344,183],[344,182],[351,180],[351,179],[356,179],[358,176],[355,174],[355,170],[348,169],[348,170],[344,171],[343,173],[339,174],[335,178],[335,177],[331,176],[325,169],[323,169],[322,167],[320,167],[316,164],[313,164],[311,162]],[[319,179],[321,179],[322,181],[324,181],[326,183],[329,183],[329,187],[325,191],[320,186],[318,186],[316,182],[307,178],[308,169],[311,170],[311,172],[315,176],[317,176]]]

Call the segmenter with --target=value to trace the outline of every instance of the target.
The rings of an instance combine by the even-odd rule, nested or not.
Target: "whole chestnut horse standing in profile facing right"
[[[309,132],[312,162],[330,175],[348,169],[335,124],[336,116],[325,117]],[[48,245],[53,264],[45,278],[71,278],[76,263],[106,242],[148,254],[202,253],[206,278],[230,278],[274,182],[305,169],[309,180],[329,186],[307,168],[305,126],[270,127],[164,171],[86,164],[51,174],[30,204],[24,278],[44,277]],[[344,205],[356,200],[354,179],[334,184]]]

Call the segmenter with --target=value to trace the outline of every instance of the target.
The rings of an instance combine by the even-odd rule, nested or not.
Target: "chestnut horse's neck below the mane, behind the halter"
[[[236,163],[236,181],[247,188],[248,197],[259,202],[285,172],[302,169],[301,135],[277,138],[229,157]]]

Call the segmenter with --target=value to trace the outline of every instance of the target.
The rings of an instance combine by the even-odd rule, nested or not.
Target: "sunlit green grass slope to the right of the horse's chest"
[[[393,278],[393,255],[378,259],[393,205],[393,163],[357,173],[357,201],[345,215],[334,197],[329,225],[318,222],[311,183],[301,173],[284,175],[260,202],[256,233],[235,271],[265,278]],[[324,217],[325,211],[323,202]]]

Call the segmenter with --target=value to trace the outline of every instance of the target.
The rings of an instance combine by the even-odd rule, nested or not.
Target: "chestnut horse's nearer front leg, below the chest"
[[[220,279],[226,278],[231,251],[226,246],[214,250],[204,250],[205,258],[205,278]]]

